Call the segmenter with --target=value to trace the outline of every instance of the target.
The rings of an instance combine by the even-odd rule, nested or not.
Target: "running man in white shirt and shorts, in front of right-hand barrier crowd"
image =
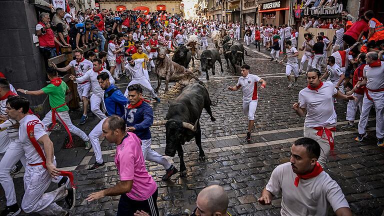
[[[298,63],[297,56],[298,51],[295,47],[292,46],[292,41],[287,40],[285,42],[286,55],[280,60],[280,63],[287,57],[286,67],[285,67],[285,75],[288,77],[288,87],[292,87],[292,84],[297,86],[297,78],[298,78]],[[290,71],[293,70],[294,81],[290,78]]]

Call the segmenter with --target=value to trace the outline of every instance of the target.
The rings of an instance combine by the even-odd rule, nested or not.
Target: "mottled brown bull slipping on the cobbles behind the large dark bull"
[[[169,80],[174,80],[182,85],[187,85],[190,79],[194,78],[198,80],[198,75],[201,72],[198,69],[195,69],[191,72],[188,69],[185,69],[184,66],[179,65],[170,60],[167,53],[171,52],[165,46],[159,46],[157,49],[157,59],[156,59],[156,76],[157,76],[157,87],[155,91],[157,92],[161,85],[161,79],[165,79],[165,93],[168,93],[168,83]],[[174,52],[174,51],[172,51]]]

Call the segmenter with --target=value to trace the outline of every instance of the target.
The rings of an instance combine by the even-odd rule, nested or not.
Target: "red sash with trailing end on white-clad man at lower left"
[[[26,124],[26,132],[28,134],[28,138],[29,138],[30,142],[32,142],[33,147],[36,149],[38,155],[40,155],[40,157],[42,159],[42,162],[39,162],[39,163],[28,163],[28,164],[31,165],[31,166],[42,165],[42,167],[46,168],[46,165],[45,165],[45,161],[46,161],[45,155],[42,152],[40,144],[34,138],[34,126],[36,124],[41,124],[41,123],[39,122],[39,120],[28,121],[27,124]],[[42,125],[42,124],[41,124],[41,126],[44,127],[44,125]],[[73,178],[72,172],[70,172],[70,171],[63,171],[63,170],[58,170],[58,171],[60,172],[61,176],[67,176],[69,178],[69,181],[70,181],[70,184],[72,185],[72,187],[75,187],[74,178]]]

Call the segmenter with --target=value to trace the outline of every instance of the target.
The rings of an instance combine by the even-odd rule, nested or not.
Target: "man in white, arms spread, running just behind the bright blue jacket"
[[[69,79],[73,80],[73,82],[75,83],[82,83],[84,81],[90,82],[90,86],[92,89],[92,94],[90,95],[90,110],[93,112],[94,115],[100,118],[100,120],[106,118],[105,114],[100,110],[100,104],[104,104],[104,90],[101,89],[100,85],[98,84],[97,75],[101,72],[107,72],[110,76],[110,83],[114,84],[114,79],[110,72],[101,66],[100,58],[93,59],[93,68],[86,71],[83,76],[78,78],[73,75],[69,76]]]

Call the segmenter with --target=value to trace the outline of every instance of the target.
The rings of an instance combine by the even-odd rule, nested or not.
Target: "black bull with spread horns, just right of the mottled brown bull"
[[[209,75],[208,75],[209,69],[212,69],[212,75],[214,75],[214,63],[216,61],[220,63],[221,72],[224,72],[224,70],[222,69],[220,54],[215,48],[205,49],[204,51],[201,52],[200,57],[196,57],[196,56],[194,57],[200,60],[201,71],[205,71],[207,80],[209,80]]]

